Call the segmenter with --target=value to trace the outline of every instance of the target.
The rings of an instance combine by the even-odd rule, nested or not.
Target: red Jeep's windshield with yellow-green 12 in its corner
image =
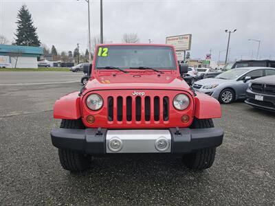
[[[175,70],[175,58],[170,47],[153,46],[108,46],[99,47],[96,68],[149,67],[153,69]]]

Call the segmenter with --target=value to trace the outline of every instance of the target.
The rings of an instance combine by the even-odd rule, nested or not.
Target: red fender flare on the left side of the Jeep
[[[79,119],[81,117],[78,93],[79,91],[69,93],[56,100],[54,103],[55,119]]]

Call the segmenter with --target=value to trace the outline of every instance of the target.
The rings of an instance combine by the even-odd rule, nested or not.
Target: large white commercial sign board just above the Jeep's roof
[[[166,37],[166,44],[173,45],[176,51],[186,51],[191,49],[192,34]]]

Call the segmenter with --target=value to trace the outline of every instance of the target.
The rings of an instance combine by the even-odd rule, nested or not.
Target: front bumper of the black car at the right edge
[[[275,95],[269,95],[265,93],[255,93],[248,89],[246,91],[247,98],[245,100],[246,104],[250,104],[256,108],[262,108],[268,111],[275,111]],[[263,101],[255,100],[255,95],[262,95]]]

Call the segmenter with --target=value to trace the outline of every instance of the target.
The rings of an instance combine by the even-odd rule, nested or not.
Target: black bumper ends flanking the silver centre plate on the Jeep
[[[220,146],[223,141],[221,128],[170,128],[171,153],[190,153],[204,148]],[[56,148],[77,150],[91,155],[106,154],[107,129],[101,134],[95,128],[68,129],[54,128],[51,132],[52,144]]]

